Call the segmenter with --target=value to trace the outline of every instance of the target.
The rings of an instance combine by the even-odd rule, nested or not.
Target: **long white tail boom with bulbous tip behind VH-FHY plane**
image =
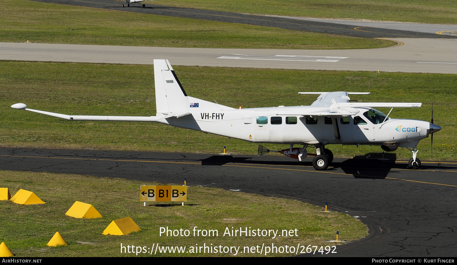
[[[52,117],[58,117],[61,119],[69,120],[69,121],[111,121],[111,122],[157,122],[159,117],[156,116],[149,116],[149,117],[141,117],[141,116],[90,116],[90,115],[65,115],[60,113],[48,112],[48,111],[38,111],[28,109],[27,105],[23,103],[17,103],[11,106],[17,110],[26,110],[41,113],[44,115],[49,115]]]

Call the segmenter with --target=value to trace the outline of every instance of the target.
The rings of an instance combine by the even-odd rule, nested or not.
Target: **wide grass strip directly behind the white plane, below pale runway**
[[[434,135],[434,159],[457,159],[455,74],[173,67],[188,95],[234,107],[300,106],[316,99],[315,95],[297,95],[301,91],[372,92],[352,98],[366,102],[422,102],[421,108],[394,109],[390,117],[430,121],[433,99],[434,122],[443,127]],[[21,102],[31,109],[71,115],[155,115],[154,71],[150,65],[3,61],[0,72],[2,146],[212,154],[221,153],[227,146],[232,154],[257,154],[255,143],[158,123],[70,122],[10,107]],[[126,77],[125,73],[135,74]],[[253,101],[258,102],[249,103]],[[272,144],[266,147],[288,148]],[[328,148],[335,157],[345,158],[382,153],[378,146]],[[420,159],[431,159],[430,138],[422,140],[418,148]],[[411,156],[404,148],[395,154],[400,159]]]

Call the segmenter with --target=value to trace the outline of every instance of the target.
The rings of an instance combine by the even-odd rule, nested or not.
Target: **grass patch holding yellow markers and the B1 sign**
[[[19,205],[0,201],[0,242],[5,242],[16,257],[49,256],[136,256],[120,253],[123,246],[333,246],[325,242],[335,239],[353,241],[367,235],[367,228],[346,214],[323,212],[322,207],[300,201],[224,191],[216,188],[188,187],[185,206],[171,202],[139,201],[140,185],[156,185],[144,181],[110,179],[82,175],[0,171],[0,187],[34,192],[46,204]],[[103,216],[77,219],[65,216],[74,201],[92,204]],[[132,217],[142,229],[126,236],[102,235],[112,220]],[[216,229],[217,237],[193,236],[193,228]],[[188,229],[189,236],[160,236],[160,227]],[[229,237],[226,228],[297,230],[288,237]],[[53,234],[59,232],[68,246],[47,247]],[[338,245],[338,244],[337,244]],[[135,248],[135,250],[137,250]],[[141,249],[143,250],[143,249]],[[302,251],[300,248],[298,252]],[[150,251],[150,250],[149,250]],[[338,251],[338,246],[336,248]],[[320,254],[320,253],[319,253]],[[291,256],[290,253],[267,256]],[[138,256],[230,256],[230,254],[145,254]],[[233,254],[231,255],[233,256]],[[238,254],[237,256],[265,256]]]

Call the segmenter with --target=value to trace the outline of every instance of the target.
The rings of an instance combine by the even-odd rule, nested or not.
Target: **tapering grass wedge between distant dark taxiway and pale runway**
[[[187,48],[349,49],[395,43],[17,0],[0,0],[0,42],[41,42]]]

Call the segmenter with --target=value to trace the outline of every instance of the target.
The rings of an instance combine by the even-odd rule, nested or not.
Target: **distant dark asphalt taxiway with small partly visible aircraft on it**
[[[163,5],[151,5],[149,2],[133,3],[130,7],[120,1],[113,0],[35,0],[39,2],[76,5],[107,10],[136,12],[160,16],[174,16],[182,18],[219,21],[228,23],[248,24],[255,26],[269,26],[309,32],[329,33],[352,37],[414,37],[414,38],[455,38],[447,34],[434,32],[411,31],[405,28],[382,28],[373,26],[355,26],[350,23],[338,23],[337,21],[316,21],[303,18],[297,20],[287,16],[260,16],[251,14],[239,14],[222,11],[211,11],[192,8],[181,8]],[[125,7],[122,7],[125,4]],[[147,4],[146,7],[142,7]],[[442,31],[446,31],[443,29]]]

